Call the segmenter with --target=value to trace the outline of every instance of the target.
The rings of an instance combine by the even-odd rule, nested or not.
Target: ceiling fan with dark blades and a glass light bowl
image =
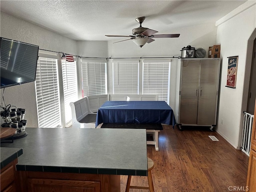
[[[127,41],[127,40],[132,40],[135,44],[140,46],[144,46],[146,43],[151,43],[154,41],[154,38],[173,38],[173,37],[179,37],[180,34],[158,34],[154,35],[158,31],[142,27],[141,24],[145,20],[145,17],[138,17],[135,19],[136,22],[140,24],[140,27],[134,28],[132,30],[133,35],[105,35],[107,37],[130,37],[130,39],[122,40],[122,41]],[[118,41],[118,42],[122,42]],[[118,43],[114,42],[114,43]]]

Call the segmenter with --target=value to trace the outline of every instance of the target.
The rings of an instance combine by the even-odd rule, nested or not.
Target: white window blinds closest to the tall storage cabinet
[[[170,60],[143,60],[142,94],[158,94],[169,104]]]

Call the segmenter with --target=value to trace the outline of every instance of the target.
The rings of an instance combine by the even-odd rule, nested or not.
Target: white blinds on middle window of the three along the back
[[[113,94],[138,94],[138,60],[113,60]]]

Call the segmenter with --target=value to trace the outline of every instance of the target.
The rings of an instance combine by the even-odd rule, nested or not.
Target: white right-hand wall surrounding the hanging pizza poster
[[[254,5],[220,24],[217,30],[217,44],[221,44],[220,57],[222,58],[217,132],[235,148],[240,147],[242,116],[243,111],[246,110],[242,106],[244,86],[248,86],[249,83],[244,79],[245,76],[250,76],[245,73],[246,53],[248,39],[256,27],[255,13]],[[235,89],[225,87],[227,57],[230,56],[239,56]],[[222,119],[223,124],[221,124]]]

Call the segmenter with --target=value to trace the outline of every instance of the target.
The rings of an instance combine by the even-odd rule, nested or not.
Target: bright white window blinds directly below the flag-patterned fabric
[[[61,60],[61,66],[64,92],[65,122],[68,124],[68,122],[72,120],[72,113],[69,104],[70,102],[75,102],[78,100],[76,61],[68,62],[66,60]]]

